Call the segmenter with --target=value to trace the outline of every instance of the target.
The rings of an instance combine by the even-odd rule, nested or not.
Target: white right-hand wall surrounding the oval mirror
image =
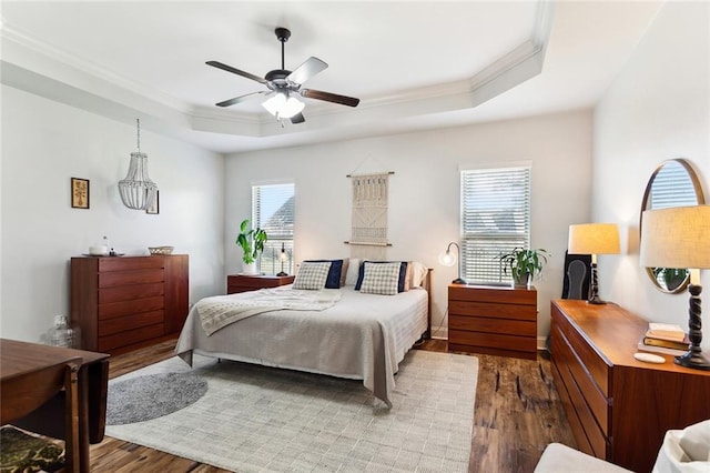
[[[639,268],[640,205],[653,170],[672,158],[692,162],[710,199],[709,69],[710,3],[667,2],[594,117],[594,218],[618,222],[628,239],[626,254],[600,256],[602,292],[649,321],[681,326],[688,292],[663,294]],[[702,285],[708,313],[710,271]]]

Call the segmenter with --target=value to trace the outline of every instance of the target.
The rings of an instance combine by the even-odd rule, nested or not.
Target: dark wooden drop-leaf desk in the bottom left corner
[[[82,472],[91,470],[89,444],[103,440],[109,391],[109,355],[83,350],[0,339],[0,375],[10,376],[79,356],[79,445]],[[63,439],[63,400],[55,399],[12,424]]]

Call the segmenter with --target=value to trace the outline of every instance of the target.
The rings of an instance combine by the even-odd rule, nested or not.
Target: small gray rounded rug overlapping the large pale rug
[[[106,425],[150,421],[179,411],[207,392],[207,382],[192,373],[146,374],[112,380]]]

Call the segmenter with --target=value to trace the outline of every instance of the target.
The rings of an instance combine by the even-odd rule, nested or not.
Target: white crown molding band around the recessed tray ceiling
[[[165,127],[245,138],[313,134],[384,120],[410,120],[433,113],[466,110],[540,73],[549,40],[554,3],[540,1],[530,38],[475,76],[459,81],[364,97],[356,109],[310,103],[306,122],[280,123],[266,112],[240,112],[193,105],[105,70],[44,43],[2,19],[2,62],[11,64],[2,82],[32,93],[124,121],[141,114]],[[31,78],[31,84],[23,80]],[[42,87],[44,81],[47,87]],[[102,107],[104,109],[102,109]],[[120,111],[119,111],[120,110]],[[146,121],[146,124],[150,120]]]

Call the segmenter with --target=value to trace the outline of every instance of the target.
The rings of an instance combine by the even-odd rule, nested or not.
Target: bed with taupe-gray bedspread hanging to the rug
[[[375,264],[368,263],[359,264],[357,283],[366,282],[366,278],[363,281],[364,273],[369,271],[368,268],[375,268]],[[352,261],[351,264],[358,262]],[[402,264],[404,268],[404,262]],[[427,270],[419,270],[422,276],[418,284],[413,283],[407,290],[395,294],[368,293],[365,285],[357,283],[337,289],[324,288],[310,292],[336,299],[327,309],[262,308],[256,314],[250,314],[207,335],[200,313],[202,308],[204,316],[205,303],[229,305],[231,301],[243,304],[243,300],[248,298],[288,298],[304,292],[298,286],[300,278],[303,281],[303,272],[302,263],[296,280],[290,285],[200,301],[187,315],[175,353],[189,364],[192,364],[192,354],[199,353],[363,380],[363,385],[390,407],[398,364],[414,343],[429,330],[430,299],[427,289],[430,276]],[[410,278],[409,272],[406,278]]]

